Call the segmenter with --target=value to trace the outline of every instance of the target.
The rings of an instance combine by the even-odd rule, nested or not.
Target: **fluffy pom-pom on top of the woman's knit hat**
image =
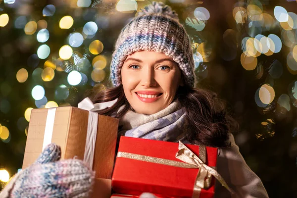
[[[137,16],[144,16],[146,14],[163,14],[178,20],[177,13],[168,5],[162,2],[153,1],[152,4],[145,6],[137,13]]]

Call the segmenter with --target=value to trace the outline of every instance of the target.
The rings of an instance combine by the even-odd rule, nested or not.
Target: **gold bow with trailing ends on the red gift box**
[[[182,142],[179,142],[178,151],[175,155],[176,158],[186,162],[187,164],[192,164],[199,169],[195,185],[193,198],[199,198],[201,189],[207,189],[210,187],[211,176],[213,175],[230,193],[234,192],[228,187],[227,183],[223,177],[213,168],[205,164],[206,160],[206,148],[204,146],[199,146],[199,156],[200,159],[194,152],[192,152],[188,147],[186,147]]]

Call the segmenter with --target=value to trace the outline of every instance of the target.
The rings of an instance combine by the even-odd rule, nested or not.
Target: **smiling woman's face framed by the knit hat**
[[[155,51],[129,55],[122,66],[121,78],[132,108],[146,115],[166,108],[182,85],[178,64],[164,53]]]

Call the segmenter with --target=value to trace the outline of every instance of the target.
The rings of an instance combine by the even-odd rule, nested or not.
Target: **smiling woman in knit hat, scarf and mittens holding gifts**
[[[119,35],[111,62],[114,88],[99,93],[94,90],[92,99],[94,102],[118,99],[113,106],[99,113],[120,118],[119,135],[220,148],[217,171],[236,195],[267,198],[261,180],[247,166],[234,142],[230,133],[232,122],[225,115],[224,107],[214,94],[195,88],[194,69],[190,41],[178,22],[177,14],[169,6],[153,2],[139,12]],[[52,153],[57,152],[58,148],[50,145],[48,154],[43,155],[48,159],[39,160],[39,166],[43,167],[48,162],[51,165],[61,163],[51,162],[57,160],[58,157],[52,157]],[[73,161],[64,161],[68,163],[63,167],[70,168]],[[78,160],[75,163],[81,170],[86,169]],[[58,180],[61,170],[53,169],[52,178]],[[31,167],[23,174],[38,173],[36,168]],[[77,173],[72,171],[71,174]],[[92,174],[88,175],[88,170],[83,174],[85,179],[92,177]],[[19,176],[14,180],[15,184],[10,185],[12,187],[7,195],[17,197],[15,192],[21,192],[18,189],[21,188],[20,181],[26,180],[26,177]],[[89,180],[84,181],[85,186],[80,192],[85,194],[76,195],[88,193],[90,183]],[[51,182],[48,181],[49,184]],[[80,185],[83,186],[76,186]],[[73,197],[74,190],[70,194],[69,189],[63,191],[59,187],[63,196]],[[215,197],[231,197],[218,182],[215,191]]]

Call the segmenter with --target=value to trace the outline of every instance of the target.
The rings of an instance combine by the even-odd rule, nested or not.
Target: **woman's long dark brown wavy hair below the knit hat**
[[[123,86],[89,92],[89,98],[94,102],[105,102],[118,98],[118,101],[107,109],[98,113],[111,115],[124,106],[116,117],[120,118],[129,109],[130,104],[125,97]],[[214,92],[189,86],[179,87],[175,99],[178,107],[186,110],[187,140],[192,144],[209,147],[229,147],[229,133],[237,128],[236,121],[227,114],[225,102],[217,98]]]

